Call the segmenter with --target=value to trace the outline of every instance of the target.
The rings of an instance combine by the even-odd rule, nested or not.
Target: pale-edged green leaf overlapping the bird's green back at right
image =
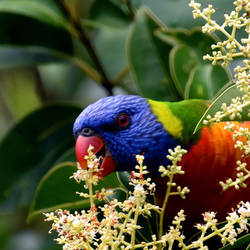
[[[226,103],[229,105],[233,98],[236,97],[242,97],[244,95],[244,92],[240,91],[239,88],[237,88],[236,85],[229,85],[228,88],[226,88],[222,93],[220,91],[220,94],[217,95],[214,100],[212,101],[210,107],[207,109],[207,111],[204,113],[204,115],[201,117],[200,121],[197,123],[194,133],[196,133],[201,127],[203,126],[203,121],[206,119],[208,115],[214,116],[215,113],[219,110],[221,110],[221,105],[223,103]],[[241,113],[242,117],[236,117],[234,121],[248,121],[248,110],[249,107],[245,107]],[[225,117],[223,121],[231,121],[229,117]]]

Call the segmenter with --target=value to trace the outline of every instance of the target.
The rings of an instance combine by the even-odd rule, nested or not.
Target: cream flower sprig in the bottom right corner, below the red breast
[[[238,209],[231,212],[226,217],[226,222],[223,226],[218,226],[216,219],[216,213],[205,212],[203,214],[204,224],[197,224],[196,227],[200,231],[197,240],[192,241],[190,244],[185,244],[185,236],[181,232],[182,226],[181,222],[185,220],[183,210],[181,210],[173,221],[173,226],[170,227],[169,231],[162,236],[168,246],[173,246],[174,242],[178,242],[178,246],[181,249],[193,249],[198,248],[202,250],[207,250],[206,241],[213,238],[214,236],[219,236],[221,238],[221,243],[233,245],[236,241],[236,237],[243,231],[248,231],[249,223],[248,218],[250,216],[250,203],[241,202],[238,205]],[[172,249],[172,247],[168,248]]]

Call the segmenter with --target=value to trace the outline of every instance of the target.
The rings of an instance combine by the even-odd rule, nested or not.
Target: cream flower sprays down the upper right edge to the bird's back
[[[204,120],[204,124],[221,121],[225,117],[229,117],[231,120],[235,118],[241,118],[241,112],[243,108],[250,105],[250,22],[248,19],[250,3],[247,0],[237,0],[234,2],[235,10],[230,15],[225,14],[225,21],[222,25],[216,23],[211,19],[211,15],[215,12],[212,5],[201,10],[201,4],[192,0],[189,4],[193,8],[194,18],[201,17],[206,20],[205,26],[203,26],[203,32],[222,32],[226,40],[218,42],[212,45],[213,53],[211,55],[205,55],[204,59],[212,61],[212,64],[221,62],[222,65],[228,65],[236,57],[245,57],[243,66],[237,66],[235,68],[235,84],[243,91],[243,96],[232,99],[231,104],[228,106],[226,103],[222,104],[221,111],[218,111],[214,117],[210,115]],[[231,33],[228,33],[225,28],[231,28]],[[247,38],[242,38],[240,42],[236,38],[236,31],[238,29],[245,29]],[[250,113],[248,114],[250,116]]]

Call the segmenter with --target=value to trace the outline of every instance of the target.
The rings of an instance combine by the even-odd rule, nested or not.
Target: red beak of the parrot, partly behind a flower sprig
[[[79,135],[76,140],[75,152],[77,161],[80,163],[82,169],[87,168],[87,161],[84,159],[86,155],[88,155],[89,146],[93,146],[93,153],[97,154],[100,150],[105,147],[103,140],[98,136],[82,136]],[[103,156],[103,161],[101,164],[101,170],[99,172],[101,177],[104,177],[111,172],[113,172],[116,168],[115,162],[111,155],[107,155],[107,152]]]

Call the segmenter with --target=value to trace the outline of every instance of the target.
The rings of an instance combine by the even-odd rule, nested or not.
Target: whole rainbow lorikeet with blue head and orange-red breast
[[[102,98],[85,108],[74,123],[77,159],[84,168],[91,144],[94,153],[103,156],[101,173],[106,176],[112,171],[134,170],[135,155],[144,154],[144,165],[156,183],[156,198],[161,204],[166,179],[159,176],[159,166],[169,163],[168,149],[181,145],[188,150],[181,162],[185,174],[176,176],[175,181],[191,192],[185,200],[177,196],[170,199],[168,217],[180,209],[185,210],[190,223],[198,222],[201,213],[209,210],[224,217],[239,201],[250,199],[250,186],[222,191],[219,181],[236,177],[241,152],[234,147],[232,133],[224,129],[223,122],[193,134],[207,107],[204,100],[158,102],[129,95]],[[250,127],[250,122],[241,126]],[[245,161],[249,166],[249,157]]]

